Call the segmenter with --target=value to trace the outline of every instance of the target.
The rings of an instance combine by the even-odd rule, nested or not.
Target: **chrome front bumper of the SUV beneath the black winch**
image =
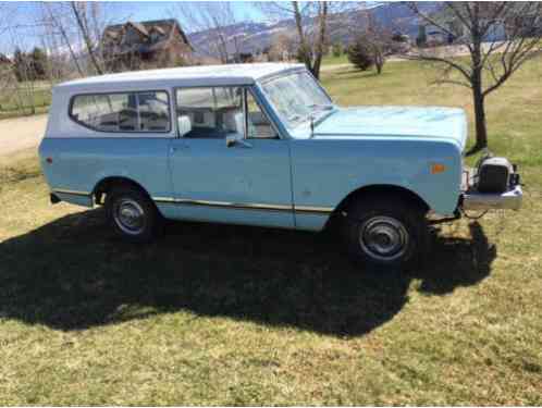
[[[521,186],[517,185],[503,194],[466,191],[463,194],[464,210],[519,210],[523,199]]]

